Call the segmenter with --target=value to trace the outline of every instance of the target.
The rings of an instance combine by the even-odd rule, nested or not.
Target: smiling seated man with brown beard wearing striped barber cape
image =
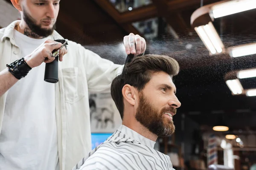
[[[111,84],[122,125],[73,170],[173,170],[169,156],[154,150],[158,136],[175,131],[180,102],[172,77],[179,65],[168,56],[145,55],[125,66]]]

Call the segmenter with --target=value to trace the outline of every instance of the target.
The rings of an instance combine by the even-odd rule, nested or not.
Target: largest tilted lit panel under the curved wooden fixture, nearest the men
[[[223,51],[224,45],[212,22],[209,22],[205,26],[195,27],[195,31],[211,54],[221,53]]]

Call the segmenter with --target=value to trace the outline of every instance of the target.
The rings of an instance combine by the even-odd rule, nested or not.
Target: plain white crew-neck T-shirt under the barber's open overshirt
[[[25,57],[44,39],[14,32]],[[56,170],[58,163],[55,85],[44,81],[45,63],[8,92],[0,136],[1,170]],[[58,168],[59,169],[59,168]]]

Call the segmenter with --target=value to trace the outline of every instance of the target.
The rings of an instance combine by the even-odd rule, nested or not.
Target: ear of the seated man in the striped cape
[[[137,90],[131,85],[124,85],[122,88],[122,95],[124,99],[131,105],[135,105],[137,101]]]

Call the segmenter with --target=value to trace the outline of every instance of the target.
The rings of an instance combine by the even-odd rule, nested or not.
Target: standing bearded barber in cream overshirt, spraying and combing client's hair
[[[22,19],[0,29],[0,169],[70,170],[91,150],[88,91],[110,92],[123,66],[68,41],[58,83],[44,82],[64,39],[54,30],[60,0],[11,1]],[[139,35],[123,42],[127,54],[145,52]]]

